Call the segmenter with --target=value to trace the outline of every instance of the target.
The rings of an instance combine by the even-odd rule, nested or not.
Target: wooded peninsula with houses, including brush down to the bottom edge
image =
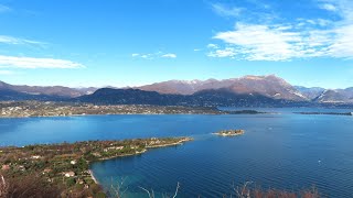
[[[150,148],[188,141],[192,139],[151,138],[0,147],[0,186],[8,185],[14,193],[31,193],[23,197],[36,197],[35,190],[41,194],[47,190],[49,197],[106,197],[89,169],[92,162],[138,155]]]

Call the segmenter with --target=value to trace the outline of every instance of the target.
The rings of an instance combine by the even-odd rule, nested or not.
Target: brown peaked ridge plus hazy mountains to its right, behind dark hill
[[[136,87],[160,94],[193,95],[203,90],[227,89],[235,95],[261,95],[272,99],[319,103],[353,103],[353,88],[329,90],[292,86],[275,75],[244,76],[224,80],[169,80]]]

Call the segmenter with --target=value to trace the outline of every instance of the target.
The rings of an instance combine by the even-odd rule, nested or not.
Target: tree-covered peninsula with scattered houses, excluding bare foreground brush
[[[96,195],[105,191],[92,169],[93,163],[140,155],[149,150],[182,145],[189,141],[193,141],[193,139],[188,136],[148,138],[4,146],[0,147],[2,158],[0,168],[18,178],[25,177],[26,174],[40,175],[43,182],[65,185],[66,188],[62,189],[63,193],[86,189],[87,194]],[[9,163],[9,158],[14,157],[13,154],[17,155],[15,162]],[[45,166],[36,166],[38,163],[43,163]],[[60,164],[60,169],[56,168],[57,164]],[[23,175],[24,170],[26,174]]]

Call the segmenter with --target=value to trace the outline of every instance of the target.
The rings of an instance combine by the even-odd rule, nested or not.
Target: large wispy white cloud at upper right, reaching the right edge
[[[318,8],[340,15],[329,19],[298,19],[286,23],[237,22],[234,30],[216,33],[218,48],[208,45],[211,57],[247,61],[295,58],[353,58],[353,4],[349,0],[320,0]],[[323,29],[324,28],[324,29]]]

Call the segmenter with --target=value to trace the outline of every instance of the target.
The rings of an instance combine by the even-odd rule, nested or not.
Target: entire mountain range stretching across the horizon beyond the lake
[[[353,88],[292,86],[275,75],[224,80],[169,80],[133,88],[14,86],[0,81],[0,100],[62,100],[163,106],[353,105]]]

